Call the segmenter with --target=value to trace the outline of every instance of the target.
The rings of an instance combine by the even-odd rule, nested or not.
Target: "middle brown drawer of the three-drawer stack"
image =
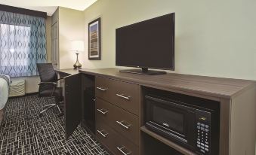
[[[103,120],[132,143],[139,144],[139,120],[136,115],[99,98],[96,99],[95,113],[96,119]]]

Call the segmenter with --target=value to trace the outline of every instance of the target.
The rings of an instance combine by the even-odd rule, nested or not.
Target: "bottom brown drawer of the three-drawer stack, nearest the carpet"
[[[139,149],[136,145],[132,144],[128,139],[122,137],[102,120],[96,121],[96,137],[115,155],[138,155]]]

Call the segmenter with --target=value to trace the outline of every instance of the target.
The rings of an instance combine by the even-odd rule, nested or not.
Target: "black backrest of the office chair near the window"
[[[36,65],[39,71],[39,77],[41,82],[57,81],[57,74],[54,71],[54,67],[51,63],[37,63]]]

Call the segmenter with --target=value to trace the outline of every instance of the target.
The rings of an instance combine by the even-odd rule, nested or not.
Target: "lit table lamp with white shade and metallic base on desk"
[[[74,69],[82,67],[79,62],[79,52],[84,51],[84,41],[71,41],[71,50],[76,52],[76,63],[73,65]]]

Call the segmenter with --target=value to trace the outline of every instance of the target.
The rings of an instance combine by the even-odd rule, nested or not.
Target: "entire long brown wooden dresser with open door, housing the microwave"
[[[116,155],[196,154],[145,127],[145,88],[199,99],[220,106],[220,155],[254,155],[256,83],[187,74],[140,75],[116,68],[82,69],[64,78],[66,137],[86,122],[91,90],[95,128],[91,134]],[[86,101],[86,102],[85,102]],[[206,104],[206,103],[205,103]],[[85,127],[87,127],[85,123]],[[215,155],[215,154],[214,154]]]

